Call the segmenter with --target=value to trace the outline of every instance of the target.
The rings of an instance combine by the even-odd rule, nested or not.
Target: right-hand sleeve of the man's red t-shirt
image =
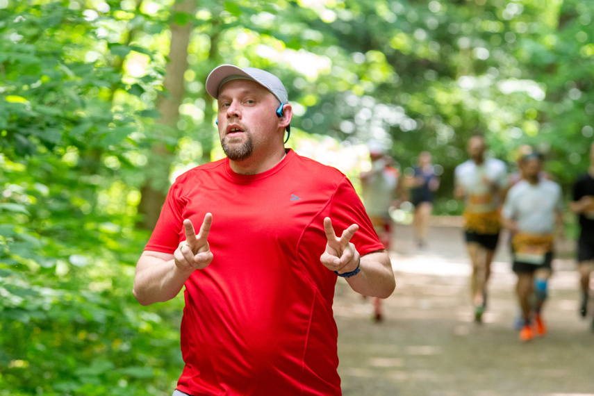
[[[365,212],[361,199],[346,176],[331,199],[330,218],[337,233],[347,229],[351,224],[359,226],[351,239],[359,254],[364,255],[384,248]]]

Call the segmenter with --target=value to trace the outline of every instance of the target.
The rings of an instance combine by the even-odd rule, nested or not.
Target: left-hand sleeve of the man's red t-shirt
[[[178,198],[179,184],[174,183],[167,192],[165,204],[161,208],[159,220],[145,246],[145,250],[160,251],[163,253],[173,253],[180,242],[180,233],[182,229],[183,204]]]

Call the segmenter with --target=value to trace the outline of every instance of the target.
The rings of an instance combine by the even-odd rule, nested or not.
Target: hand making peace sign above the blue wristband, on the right
[[[334,233],[330,217],[324,218],[324,232],[328,240],[326,251],[320,257],[324,267],[339,274],[356,270],[360,256],[350,240],[358,229],[357,224],[351,224],[349,228],[343,231],[343,235],[338,238]]]

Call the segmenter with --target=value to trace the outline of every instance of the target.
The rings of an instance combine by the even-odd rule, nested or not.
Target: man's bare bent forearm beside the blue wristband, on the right
[[[386,251],[361,256],[361,272],[347,278],[351,288],[369,297],[390,297],[396,288],[392,263]]]

